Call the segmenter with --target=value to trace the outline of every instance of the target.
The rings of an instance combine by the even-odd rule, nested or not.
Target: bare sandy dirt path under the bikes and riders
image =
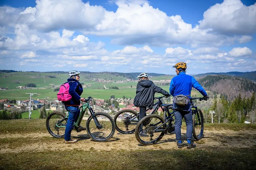
[[[182,129],[182,139],[186,140],[186,130]],[[70,150],[81,149],[84,151],[109,151],[109,150],[140,150],[140,149],[178,149],[175,135],[165,135],[160,142],[150,146],[142,146],[136,140],[135,135],[124,135],[116,131],[115,135],[107,142],[94,142],[86,134],[86,131],[79,133],[72,132],[72,138],[79,141],[75,144],[64,144],[64,139],[51,137],[48,133],[28,133],[28,134],[5,134],[1,135],[1,140],[10,142],[1,144],[0,153],[12,152],[40,152],[45,150]],[[256,131],[204,131],[204,138],[197,143],[197,149],[204,149],[211,146],[225,148],[249,148],[256,145]],[[17,141],[17,142],[15,142]],[[246,145],[245,145],[246,144]],[[186,148],[182,148],[186,149]]]

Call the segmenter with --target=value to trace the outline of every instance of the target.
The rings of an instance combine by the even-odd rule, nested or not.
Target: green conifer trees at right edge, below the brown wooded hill
[[[215,119],[217,122],[230,122],[230,123],[243,123],[245,120],[251,122],[252,116],[255,112],[256,96],[255,92],[252,93],[251,97],[241,97],[239,93],[238,96],[233,101],[225,100],[224,95],[221,99],[217,101],[214,98],[213,105],[209,110],[215,111]],[[207,114],[209,113],[209,110]],[[207,116],[205,116],[207,118]],[[209,120],[208,120],[209,121]]]

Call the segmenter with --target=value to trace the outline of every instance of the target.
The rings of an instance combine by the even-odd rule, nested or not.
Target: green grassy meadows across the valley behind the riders
[[[109,79],[113,81],[126,80],[127,78],[122,76],[115,76],[113,74],[103,74],[103,73],[81,73],[80,82],[84,85],[92,85],[92,87],[85,87],[82,94],[83,97],[87,98],[92,96],[97,99],[109,99],[111,95],[115,95],[116,98],[122,98],[123,96],[128,98],[134,98],[136,94],[137,82],[125,82],[125,83],[104,83],[92,81],[93,78]],[[56,78],[49,78],[50,76]],[[33,99],[48,99],[56,100],[57,92],[53,92],[56,86],[61,85],[67,81],[67,73],[44,73],[44,72],[12,72],[0,74],[0,87],[8,87],[8,90],[0,91],[0,99],[17,99],[17,100],[27,100],[29,99],[29,94],[25,93],[37,93],[32,96]],[[172,76],[158,76],[152,77],[150,80],[170,80]],[[25,86],[26,84],[34,83],[36,88],[29,89],[18,89],[18,86]],[[157,84],[157,83],[156,83]],[[104,89],[104,85],[107,88],[116,86],[119,89]],[[132,86],[132,87],[131,87]],[[169,86],[160,86],[164,90],[169,92]],[[191,95],[202,96],[197,91],[192,91]],[[159,96],[156,93],[156,96]]]

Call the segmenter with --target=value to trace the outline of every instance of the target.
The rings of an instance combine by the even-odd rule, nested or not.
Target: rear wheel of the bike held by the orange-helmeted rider
[[[164,119],[162,116],[151,114],[143,117],[140,122],[138,122],[136,129],[135,129],[135,137],[138,142],[143,145],[151,145],[155,144],[156,142],[160,141],[166,131],[166,124],[164,123]],[[148,134],[148,137],[141,137],[139,135],[139,127],[143,125],[143,131],[145,134]],[[160,128],[156,129],[162,125]]]

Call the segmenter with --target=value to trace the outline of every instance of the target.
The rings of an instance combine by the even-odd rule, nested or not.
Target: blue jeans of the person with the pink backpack
[[[73,129],[74,122],[77,121],[80,115],[80,109],[78,109],[78,106],[65,106],[65,108],[68,111],[68,121],[65,129],[65,140],[68,141],[71,137],[71,131]]]

